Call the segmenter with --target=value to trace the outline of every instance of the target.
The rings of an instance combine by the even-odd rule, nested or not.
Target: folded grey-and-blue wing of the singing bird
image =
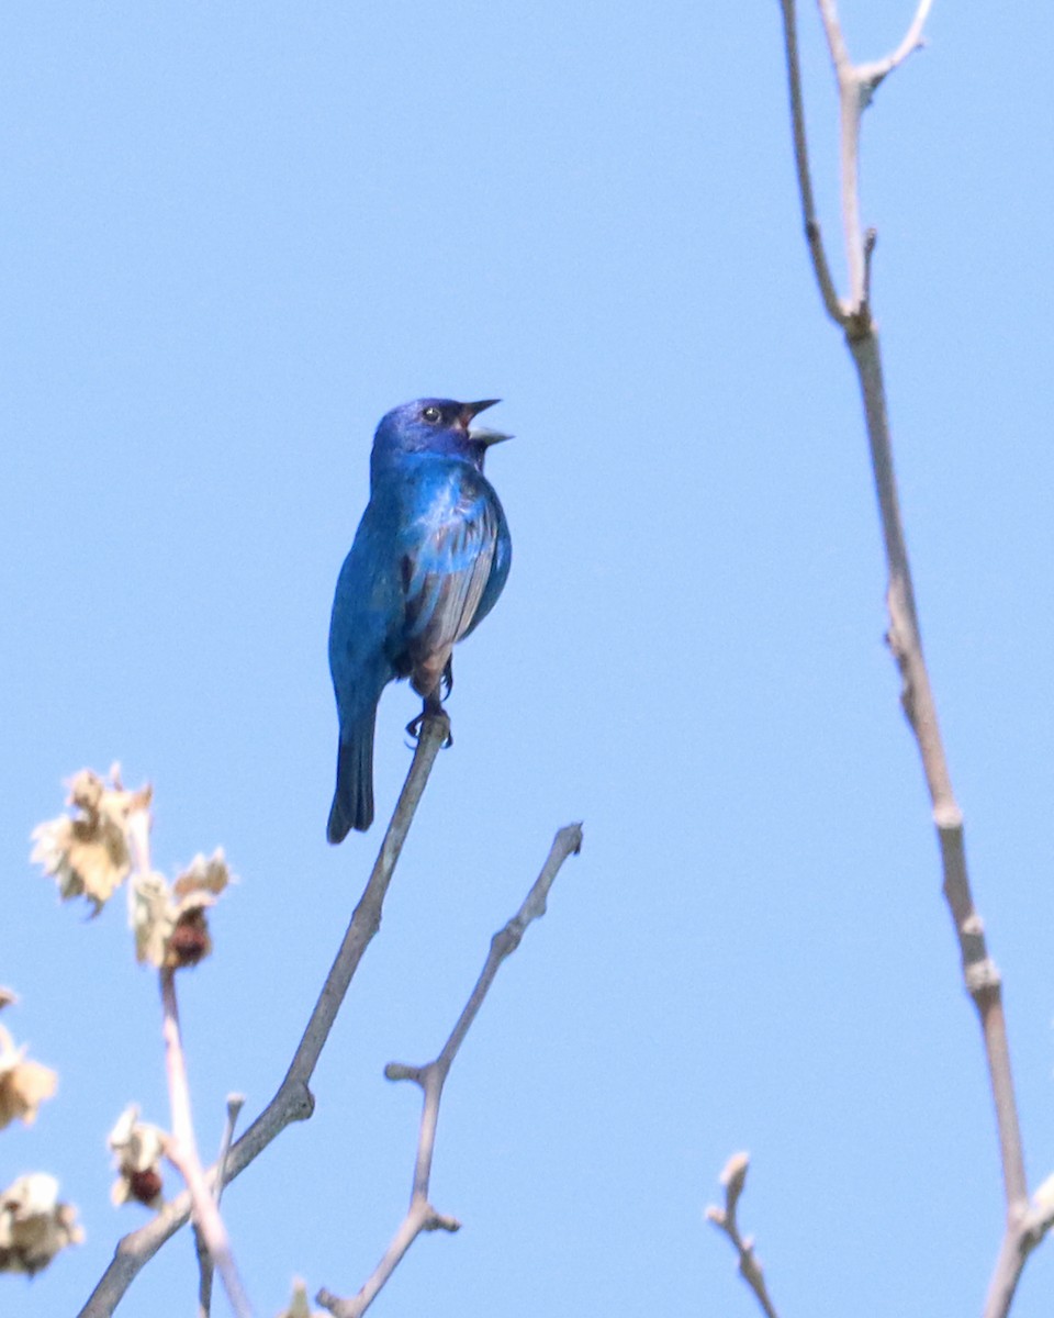
[[[449,651],[472,626],[494,564],[498,518],[486,485],[464,480],[422,517],[422,539],[402,560],[404,638],[414,652]]]

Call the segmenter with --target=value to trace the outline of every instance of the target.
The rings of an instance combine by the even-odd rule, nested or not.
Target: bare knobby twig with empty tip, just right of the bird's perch
[[[399,1223],[383,1257],[373,1269],[358,1294],[343,1300],[332,1294],[332,1292],[323,1289],[315,1297],[315,1302],[320,1304],[323,1309],[328,1309],[333,1314],[333,1318],[361,1318],[422,1231],[457,1231],[460,1228],[461,1223],[456,1218],[437,1213],[428,1198],[443,1086],[457,1056],[457,1049],[464,1043],[465,1035],[469,1032],[469,1027],[494,982],[498,967],[506,957],[516,950],[527,931],[527,925],[545,913],[545,899],[556,875],[560,873],[561,865],[569,855],[577,855],[581,846],[581,824],[568,824],[556,834],[545,863],[541,866],[541,873],[524,898],[523,905],[505,928],[499,929],[490,940],[490,953],[484,963],[480,978],[476,981],[476,987],[472,990],[469,1000],[457,1017],[457,1024],[451,1031],[451,1036],[443,1045],[439,1057],[426,1066],[406,1066],[402,1062],[390,1062],[385,1068],[385,1075],[389,1079],[410,1079],[422,1089],[423,1099],[420,1130],[418,1132],[418,1153],[414,1164],[414,1189],[410,1195],[410,1207],[406,1217]]]

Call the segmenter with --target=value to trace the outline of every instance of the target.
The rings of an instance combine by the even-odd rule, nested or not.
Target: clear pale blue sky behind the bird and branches
[[[837,248],[833,79],[802,43]],[[854,54],[912,5],[846,4]],[[875,12],[881,9],[881,12]],[[924,638],[1007,977],[1033,1185],[1054,1169],[1049,51],[1030,3],[937,5],[864,125],[864,215]],[[555,829],[585,821],[448,1085],[433,1197],[375,1311],[752,1313],[702,1220],[726,1157],[784,1318],[978,1311],[1001,1188],[914,747],[881,635],[859,403],[801,241],[773,3],[13,5],[0,41],[8,569],[5,1024],[61,1073],[0,1182],[117,1236],[104,1137],[167,1122],[157,988],[26,862],[120,759],[173,873],[241,876],[182,985],[199,1137],[281,1079],[379,826],[324,841],[332,588],[377,419],[501,395],[514,538],[316,1074],[224,1201],[260,1314],[357,1289],[404,1209],[416,1095]],[[835,262],[841,270],[841,257]],[[378,816],[408,763],[389,691]],[[1051,1247],[1017,1318],[1049,1311]],[[186,1313],[174,1240],[132,1314]],[[217,1304],[217,1311],[223,1311]]]

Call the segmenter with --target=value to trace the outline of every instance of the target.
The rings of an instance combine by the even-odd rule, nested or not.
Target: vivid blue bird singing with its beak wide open
[[[453,687],[451,651],[490,613],[513,558],[484,457],[510,435],[472,420],[497,398],[418,398],[381,419],[370,501],[340,569],[329,671],[340,720],[337,786],[327,837],[373,822],[373,730],[390,681],[408,677],[422,718]],[[420,720],[407,731],[414,733]]]

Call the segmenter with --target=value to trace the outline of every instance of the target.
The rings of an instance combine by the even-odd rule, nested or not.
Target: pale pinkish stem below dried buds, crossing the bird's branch
[[[194,1122],[190,1111],[190,1083],[183,1053],[183,1039],[179,1029],[179,1003],[175,995],[175,970],[162,966],[161,1003],[163,1010],[165,1062],[169,1073],[169,1102],[173,1114],[173,1133],[166,1153],[169,1161],[178,1168],[191,1198],[194,1222],[202,1234],[204,1247],[220,1272],[227,1297],[237,1318],[250,1318],[252,1305],[241,1284],[235,1256],[231,1252],[231,1238],[220,1217],[216,1197],[206,1181],[202,1159],[198,1153],[198,1140],[194,1136]]]

